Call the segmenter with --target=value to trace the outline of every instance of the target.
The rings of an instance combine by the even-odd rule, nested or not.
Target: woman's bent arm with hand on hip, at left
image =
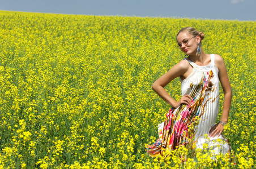
[[[189,69],[189,63],[185,60],[181,60],[180,63],[174,65],[167,73],[162,75],[152,84],[152,89],[159,95],[164,101],[177,108],[179,105],[185,103],[191,104],[192,97],[189,95],[182,96],[179,101],[174,100],[164,89],[164,87],[177,77],[184,77]]]

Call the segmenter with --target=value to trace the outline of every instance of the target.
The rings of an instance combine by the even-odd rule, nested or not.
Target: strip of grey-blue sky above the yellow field
[[[0,0],[0,10],[256,21],[256,0]]]

